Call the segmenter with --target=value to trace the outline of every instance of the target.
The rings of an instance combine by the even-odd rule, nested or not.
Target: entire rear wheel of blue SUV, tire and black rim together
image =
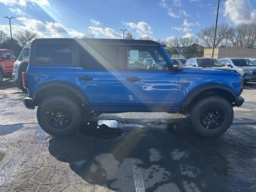
[[[41,128],[52,136],[68,136],[81,125],[81,106],[66,96],[50,96],[40,102],[37,120]]]

